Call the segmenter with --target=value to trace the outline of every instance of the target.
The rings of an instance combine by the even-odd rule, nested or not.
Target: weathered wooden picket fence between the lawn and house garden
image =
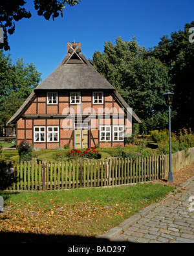
[[[14,174],[6,174],[3,189],[41,191],[103,187],[153,181],[164,178],[164,156],[111,158],[98,160],[21,162],[12,165]],[[4,167],[6,168],[6,167]],[[5,170],[3,173],[6,173]],[[2,189],[2,186],[0,187]]]

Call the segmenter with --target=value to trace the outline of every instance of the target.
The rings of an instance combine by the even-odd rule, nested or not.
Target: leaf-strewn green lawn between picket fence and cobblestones
[[[129,187],[0,192],[9,209],[0,216],[0,231],[98,236],[173,189],[138,183]]]

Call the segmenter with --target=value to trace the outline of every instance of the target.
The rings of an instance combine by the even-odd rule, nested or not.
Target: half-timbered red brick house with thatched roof
[[[124,145],[132,122],[141,122],[118,91],[92,67],[80,43],[39,84],[8,124],[16,124],[17,145],[34,148]]]

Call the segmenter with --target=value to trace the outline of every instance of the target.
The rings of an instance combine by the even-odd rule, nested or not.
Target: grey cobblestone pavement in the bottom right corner
[[[101,238],[135,243],[194,243],[194,176]]]

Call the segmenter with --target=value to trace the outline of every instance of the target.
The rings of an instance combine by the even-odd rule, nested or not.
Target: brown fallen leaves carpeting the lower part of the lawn
[[[93,223],[101,222],[103,225],[107,218],[113,218],[113,212],[114,215],[122,216],[123,213],[118,208],[73,204],[57,207],[53,205],[52,209],[36,209],[36,205],[27,205],[23,208],[21,205],[12,204],[12,209],[6,215],[0,215],[0,231],[89,235],[91,231],[87,229]]]

